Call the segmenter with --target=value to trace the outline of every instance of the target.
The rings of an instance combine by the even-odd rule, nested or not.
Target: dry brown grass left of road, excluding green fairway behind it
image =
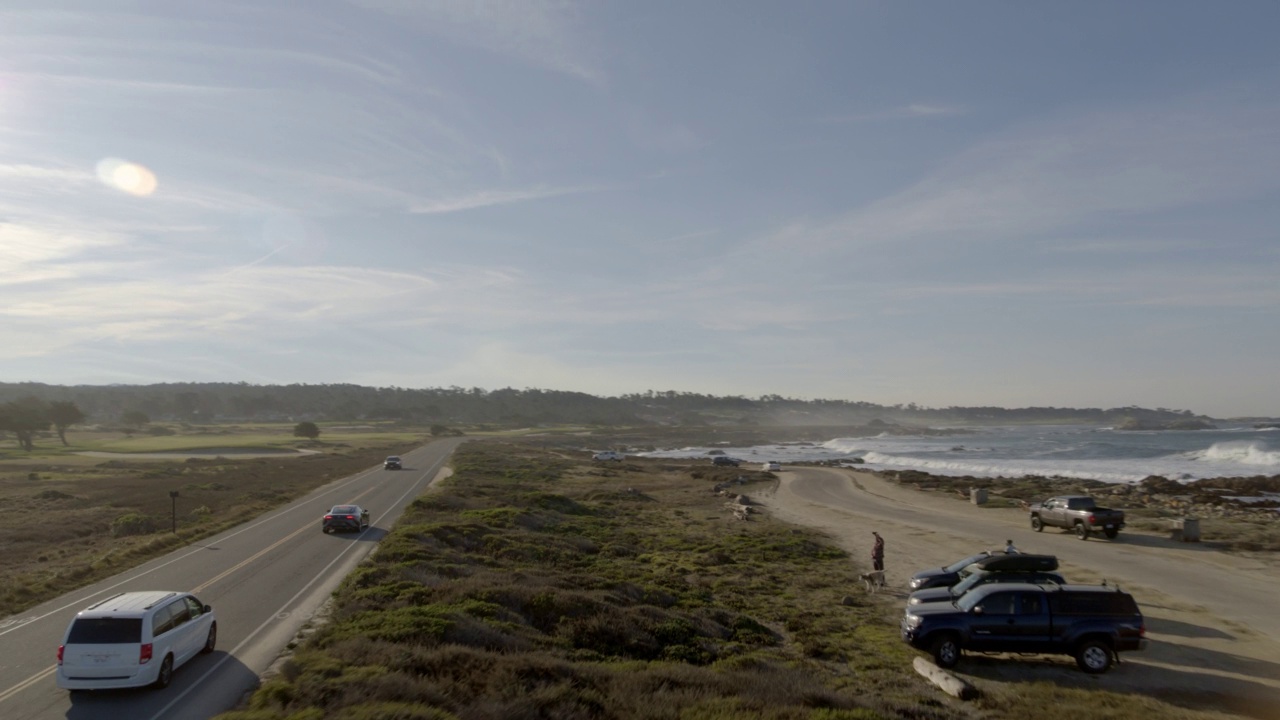
[[[251,460],[96,459],[88,466],[82,456],[8,462],[0,470],[0,510],[36,521],[0,525],[0,616],[219,533],[403,448]],[[170,491],[180,493],[177,534]],[[113,537],[113,523],[129,515],[155,532]]]

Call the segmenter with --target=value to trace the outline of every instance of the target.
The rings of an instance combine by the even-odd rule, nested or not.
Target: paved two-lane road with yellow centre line
[[[376,541],[421,495],[461,439],[329,483],[285,507],[146,565],[0,620],[0,717],[195,720],[234,706]],[[360,534],[324,534],[329,507],[370,510]],[[184,589],[218,612],[218,651],[197,656],[164,691],[76,693],[54,683],[54,655],[76,612],[115,593]]]

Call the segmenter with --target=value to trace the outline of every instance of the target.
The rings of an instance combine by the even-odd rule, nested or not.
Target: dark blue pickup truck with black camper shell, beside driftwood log
[[[1106,673],[1117,653],[1144,650],[1133,596],[1106,585],[1001,583],[955,602],[908,606],[902,639],[954,667],[964,651],[1070,655],[1085,673]]]

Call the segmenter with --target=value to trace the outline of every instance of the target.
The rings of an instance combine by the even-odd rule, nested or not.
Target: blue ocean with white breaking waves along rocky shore
[[[646,457],[705,457],[713,450],[744,462],[861,459],[874,470],[924,470],[984,478],[1044,475],[1137,483],[1280,475],[1280,429],[1115,430],[1093,425],[968,428],[973,434],[876,436],[755,447],[681,447]]]

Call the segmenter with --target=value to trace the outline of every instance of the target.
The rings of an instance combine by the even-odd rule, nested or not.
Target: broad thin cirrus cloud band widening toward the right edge
[[[1268,108],[1138,108],[1015,129],[895,195],[776,240],[828,251],[896,242],[1025,240],[1280,186]]]

